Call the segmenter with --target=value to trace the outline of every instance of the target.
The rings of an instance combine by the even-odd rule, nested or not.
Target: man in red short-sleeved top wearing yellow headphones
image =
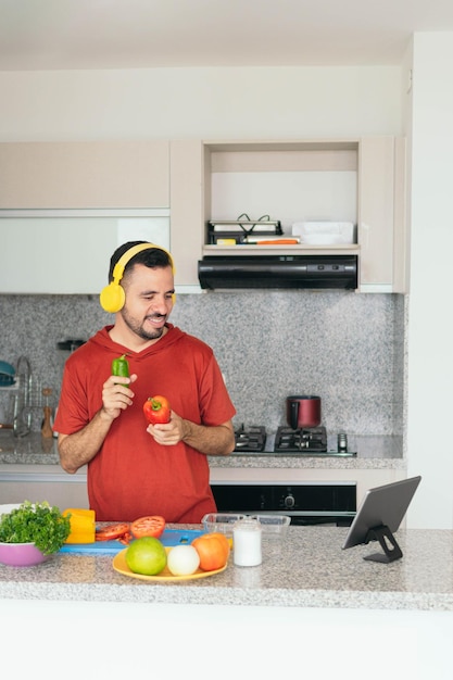
[[[54,421],[60,462],[88,465],[88,496],[99,521],[161,515],[199,522],[215,512],[209,455],[234,451],[235,407],[212,349],[168,323],[174,305],[169,253],[134,241],[111,259],[101,304],[115,313],[66,361]],[[112,376],[126,354],[130,377]],[[143,403],[165,396],[171,420],[148,425]]]

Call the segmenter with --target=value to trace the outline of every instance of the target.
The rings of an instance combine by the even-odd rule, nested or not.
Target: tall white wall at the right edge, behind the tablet
[[[453,35],[416,35],[413,59],[408,526],[452,528]]]

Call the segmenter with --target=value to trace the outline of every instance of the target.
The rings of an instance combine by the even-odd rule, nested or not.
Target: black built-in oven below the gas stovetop
[[[218,512],[278,514],[292,525],[350,526],[356,513],[353,481],[212,481]]]

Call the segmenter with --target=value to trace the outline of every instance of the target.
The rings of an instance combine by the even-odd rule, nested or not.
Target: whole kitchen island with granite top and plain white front
[[[0,566],[1,639],[9,654],[18,651],[14,626],[24,620],[37,650],[49,627],[71,647],[83,634],[70,677],[87,670],[89,650],[92,677],[106,668],[124,677],[137,666],[130,645],[151,645],[147,677],[155,666],[179,677],[176,668],[200,656],[222,659],[216,678],[247,677],[247,668],[274,678],[289,664],[301,678],[310,670],[320,679],[377,679],[385,667],[389,678],[451,679],[453,531],[400,529],[403,558],[392,564],[363,559],[376,543],[343,551],[347,532],[291,526],[285,541],[263,540],[261,566],[236,567],[230,558],[222,574],[180,582],[118,574],[111,556],[59,553],[37,567]]]

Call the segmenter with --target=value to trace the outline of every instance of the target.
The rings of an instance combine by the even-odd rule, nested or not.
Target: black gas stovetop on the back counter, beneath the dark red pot
[[[297,454],[307,456],[355,456],[348,450],[348,437],[336,435],[329,441],[324,426],[299,428],[279,427],[275,433],[267,436],[263,426],[244,427],[235,432],[235,453]]]

